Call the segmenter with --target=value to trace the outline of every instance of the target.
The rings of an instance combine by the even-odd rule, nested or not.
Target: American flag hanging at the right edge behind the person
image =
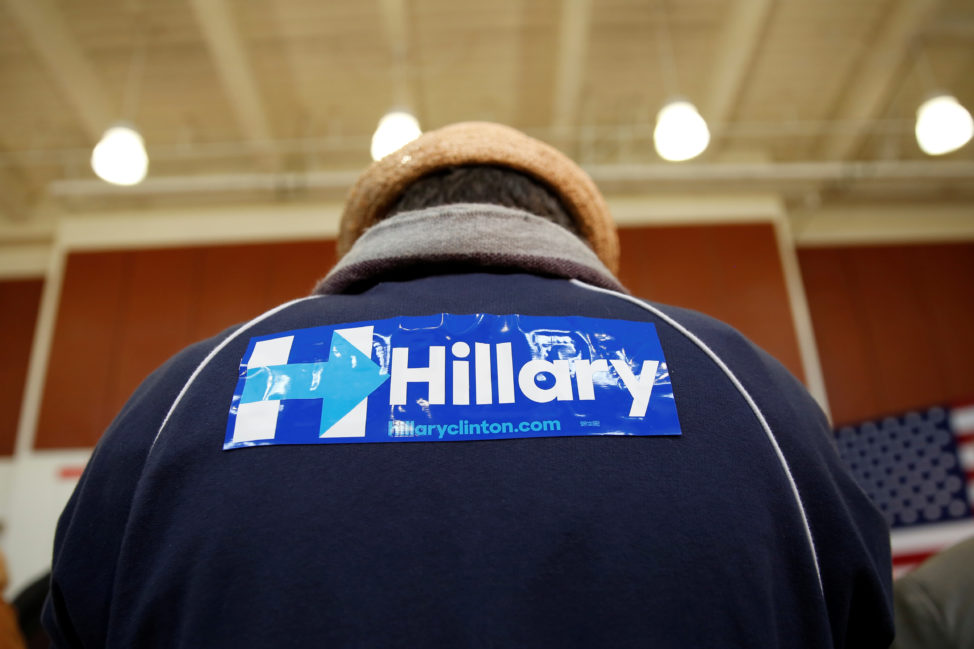
[[[974,403],[843,426],[835,438],[890,524],[894,576],[974,536]]]

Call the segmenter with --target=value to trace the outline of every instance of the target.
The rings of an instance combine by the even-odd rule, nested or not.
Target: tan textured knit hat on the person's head
[[[568,209],[610,271],[619,270],[619,237],[605,199],[581,167],[552,146],[508,126],[462,122],[424,133],[373,162],[352,186],[342,213],[338,255],[377,221],[406,188],[444,167],[496,165],[544,183]]]

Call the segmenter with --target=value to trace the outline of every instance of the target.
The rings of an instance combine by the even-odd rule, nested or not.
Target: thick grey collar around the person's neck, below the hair
[[[403,212],[371,227],[314,293],[458,270],[527,272],[627,292],[565,228],[522,210],[461,203]]]

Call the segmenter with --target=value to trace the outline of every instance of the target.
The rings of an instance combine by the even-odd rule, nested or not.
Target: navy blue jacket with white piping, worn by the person
[[[138,388],[58,527],[55,646],[889,645],[885,523],[804,388],[730,327],[537,274],[356,291]],[[223,450],[249,338],[431,313],[653,322],[682,435]]]

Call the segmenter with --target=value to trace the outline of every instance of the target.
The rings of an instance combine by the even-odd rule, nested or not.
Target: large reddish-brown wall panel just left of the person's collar
[[[330,241],[69,255],[35,445],[94,445],[139,382],[196,340],[308,295]]]

